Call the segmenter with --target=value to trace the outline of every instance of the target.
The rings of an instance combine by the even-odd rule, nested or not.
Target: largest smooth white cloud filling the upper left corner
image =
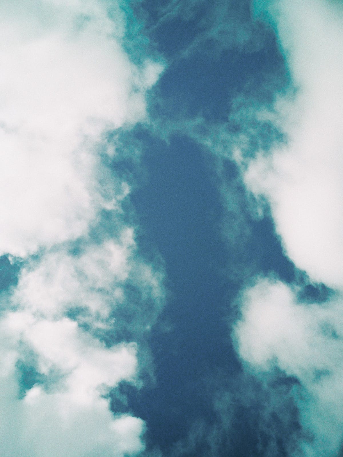
[[[77,238],[101,199],[93,149],[104,128],[145,118],[161,65],[134,65],[125,17],[98,1],[0,7],[0,251]]]

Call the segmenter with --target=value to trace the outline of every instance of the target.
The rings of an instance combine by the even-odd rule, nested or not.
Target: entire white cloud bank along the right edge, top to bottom
[[[285,254],[308,282],[334,292],[309,303],[300,286],[259,277],[239,298],[234,338],[258,377],[278,368],[301,383],[293,395],[307,437],[294,455],[333,456],[343,431],[343,10],[322,0],[261,5],[256,13],[275,27],[294,84],[269,118],[287,140],[253,155],[241,144],[235,158],[257,204],[270,208]]]

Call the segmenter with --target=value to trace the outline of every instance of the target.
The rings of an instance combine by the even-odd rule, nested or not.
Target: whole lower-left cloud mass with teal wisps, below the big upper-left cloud
[[[3,400],[17,407],[0,404],[3,419],[16,416],[24,449],[9,443],[6,455],[51,456],[59,449],[63,456],[123,456],[144,449],[144,422],[109,409],[118,383],[138,384],[139,343],[163,303],[161,274],[139,260],[132,234],[126,228],[117,243],[88,242],[80,255],[59,248],[29,261],[3,297],[0,377],[10,389]],[[127,284],[141,293],[139,303],[131,303]]]

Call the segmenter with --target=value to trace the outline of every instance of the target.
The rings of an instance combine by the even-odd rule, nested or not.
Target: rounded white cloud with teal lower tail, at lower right
[[[336,455],[343,434],[342,296],[302,304],[295,292],[276,280],[257,280],[241,295],[234,340],[256,373],[265,377],[277,366],[300,380],[300,420],[314,437],[302,442],[304,454]]]

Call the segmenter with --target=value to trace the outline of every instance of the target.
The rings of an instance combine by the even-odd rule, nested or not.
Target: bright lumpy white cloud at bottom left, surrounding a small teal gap
[[[16,360],[25,348],[39,354],[38,370],[59,370],[47,390],[17,395]],[[144,423],[113,417],[99,384],[116,385],[136,369],[134,345],[105,348],[69,319],[38,320],[25,312],[1,321],[1,427],[5,455],[123,456],[143,449]],[[100,454],[99,454],[100,452]]]

